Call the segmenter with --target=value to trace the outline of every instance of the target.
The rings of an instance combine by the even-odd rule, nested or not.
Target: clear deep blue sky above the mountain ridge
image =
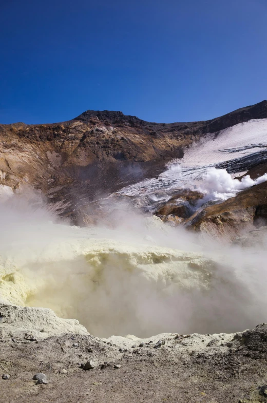
[[[267,0],[0,0],[0,123],[212,119],[267,98]]]

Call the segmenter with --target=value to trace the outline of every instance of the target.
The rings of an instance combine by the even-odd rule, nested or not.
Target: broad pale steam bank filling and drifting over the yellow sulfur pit
[[[2,300],[51,308],[96,336],[234,332],[266,321],[265,247],[201,244],[130,209],[115,229],[52,221],[40,208],[1,206]]]

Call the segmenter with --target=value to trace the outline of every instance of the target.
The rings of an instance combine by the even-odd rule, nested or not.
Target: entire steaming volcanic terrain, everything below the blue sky
[[[0,142],[1,403],[267,401],[267,101]]]

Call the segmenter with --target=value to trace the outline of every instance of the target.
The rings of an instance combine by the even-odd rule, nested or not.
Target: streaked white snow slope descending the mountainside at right
[[[208,133],[188,149],[181,160],[174,160],[157,178],[146,179],[119,191],[140,196],[166,193],[186,186],[198,187],[207,168],[226,168],[238,174],[267,160],[267,119],[253,119],[216,133]]]

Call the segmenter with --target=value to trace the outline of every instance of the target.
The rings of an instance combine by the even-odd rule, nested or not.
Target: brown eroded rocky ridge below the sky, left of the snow
[[[0,125],[0,185],[37,189],[77,223],[88,201],[157,176],[205,133],[266,117],[263,101],[203,122],[158,124],[89,110],[68,122]]]

